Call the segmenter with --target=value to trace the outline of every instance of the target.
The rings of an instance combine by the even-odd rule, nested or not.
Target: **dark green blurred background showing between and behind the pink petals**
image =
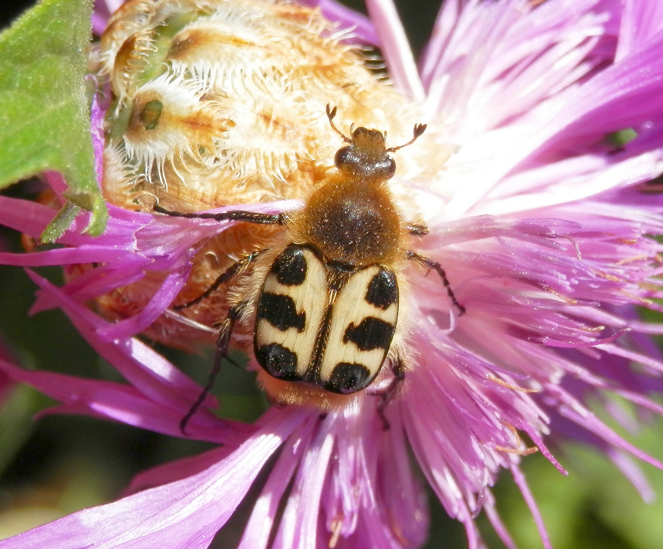
[[[8,25],[33,4],[0,2],[0,26]],[[396,3],[418,52],[430,34],[440,2]],[[359,1],[347,4],[364,11]],[[30,198],[38,188],[37,182],[27,182],[11,187],[7,194]],[[21,251],[20,236],[1,228],[0,249]],[[38,271],[62,284],[58,269]],[[27,316],[34,289],[22,269],[0,266],[0,334],[17,362],[24,367],[82,377],[118,379],[62,312]],[[210,357],[191,357],[162,347],[159,350],[198,381],[206,378]],[[265,408],[253,375],[240,369],[225,371],[215,391],[225,402],[221,413],[226,416],[253,420]],[[209,448],[207,444],[91,418],[46,416],[32,422],[34,412],[48,404],[52,404],[48,398],[27,387],[18,387],[4,405],[0,404],[0,539],[110,501],[138,471]],[[619,404],[628,407],[624,402]],[[634,442],[661,459],[662,433],[662,422],[657,420]],[[524,464],[556,549],[663,549],[660,500],[644,505],[617,468],[591,450],[568,447],[557,454],[570,469],[569,477],[562,477],[538,454],[527,457]],[[654,489],[663,495],[663,473],[648,465],[643,467]],[[258,491],[259,483],[219,533],[213,547],[230,549],[237,545]],[[534,522],[507,473],[502,475],[495,493],[499,511],[520,548],[540,548]],[[447,517],[432,494],[430,501],[432,531],[426,549],[465,549],[463,528]],[[479,517],[479,526],[491,548],[503,548],[485,518]]]

